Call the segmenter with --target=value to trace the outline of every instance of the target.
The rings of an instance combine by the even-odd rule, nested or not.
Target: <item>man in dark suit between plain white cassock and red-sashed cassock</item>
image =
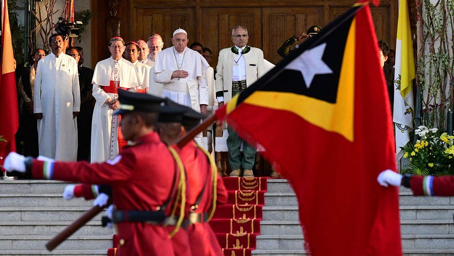
[[[80,51],[76,47],[69,47],[66,54],[77,62],[80,86],[80,113],[77,116],[77,160],[90,161],[91,120],[93,117],[94,98],[91,95],[93,85],[93,70],[79,65]]]

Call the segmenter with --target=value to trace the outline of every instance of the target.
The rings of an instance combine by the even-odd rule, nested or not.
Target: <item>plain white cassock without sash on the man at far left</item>
[[[58,161],[76,161],[77,120],[73,112],[80,111],[76,60],[64,53],[41,59],[34,95],[34,113],[42,113],[38,120],[39,154]]]

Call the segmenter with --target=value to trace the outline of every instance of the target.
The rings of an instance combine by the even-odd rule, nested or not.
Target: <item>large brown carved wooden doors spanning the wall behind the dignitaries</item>
[[[105,8],[102,9],[99,4],[103,1],[93,2],[96,2],[94,5],[98,5],[94,7],[98,12],[105,12]],[[233,45],[232,28],[242,25],[248,29],[248,44],[261,48],[265,59],[275,64],[281,59],[276,50],[284,41],[295,34],[306,32],[312,25],[324,27],[355,2],[135,0],[123,3],[117,15],[122,18],[121,35],[128,41],[137,38],[146,40],[151,33],[158,33],[164,40],[164,47],[169,47],[172,46],[173,31],[177,28],[185,29],[188,32],[189,44],[198,41],[213,51],[211,62],[213,67],[217,64],[219,50]],[[382,0],[380,6],[371,7],[377,38],[387,41],[391,48],[395,45],[397,5],[397,0]],[[95,18],[94,22],[94,33],[97,29],[105,30],[100,16]],[[99,48],[105,52],[104,47]]]

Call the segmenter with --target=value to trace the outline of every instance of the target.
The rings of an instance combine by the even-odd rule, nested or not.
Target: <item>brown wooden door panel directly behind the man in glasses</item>
[[[248,45],[262,48],[261,8],[202,8],[200,43],[213,51],[211,66],[216,67],[219,51],[233,46],[232,29],[248,29]],[[190,40],[191,42],[193,40]]]

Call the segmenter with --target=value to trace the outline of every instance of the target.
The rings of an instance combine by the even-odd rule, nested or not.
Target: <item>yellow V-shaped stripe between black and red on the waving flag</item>
[[[290,111],[307,122],[354,140],[356,18],[352,21],[344,50],[336,103],[290,92],[256,91],[244,102],[263,108]],[[233,101],[233,99],[232,99]],[[232,102],[231,101],[231,102]],[[230,102],[230,103],[231,103]],[[230,104],[229,103],[229,104]],[[236,106],[236,98],[235,105]],[[229,112],[227,106],[227,113]]]

